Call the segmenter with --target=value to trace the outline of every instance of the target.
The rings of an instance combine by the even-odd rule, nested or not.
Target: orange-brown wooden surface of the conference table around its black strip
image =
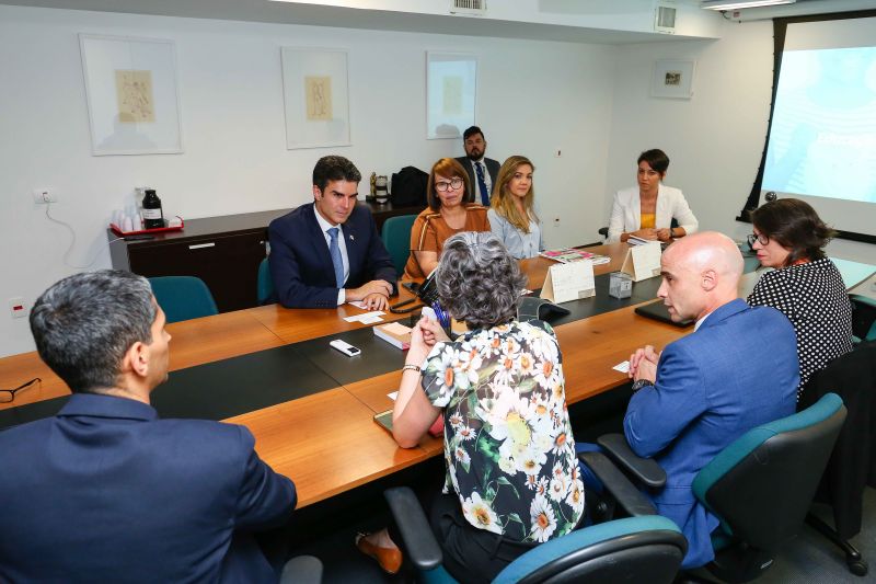
[[[626,249],[623,243],[592,248],[595,253],[612,259],[609,264],[595,266],[595,274],[599,276],[619,270]],[[541,288],[552,263],[540,257],[521,263],[531,289]],[[654,290],[656,286],[647,289]],[[599,287],[597,294],[600,294]],[[604,295],[604,290],[601,294]],[[400,299],[393,301],[405,298],[410,298],[410,295],[402,290]],[[633,301],[624,302],[622,308],[555,327],[563,354],[568,403],[624,383],[626,375],[612,367],[629,358],[635,348],[653,344],[661,350],[692,330],[635,314],[634,305],[646,299],[635,298],[634,295]],[[608,298],[607,301],[613,299]],[[361,312],[349,305],[336,309],[291,310],[272,305],[169,324],[168,331],[173,337],[170,345],[171,380],[174,375],[186,375],[188,371],[184,370],[192,367],[326,335],[355,332],[368,325],[346,322],[343,318]],[[405,314],[387,314],[387,319],[392,320],[407,318]],[[318,345],[321,347],[321,342]],[[328,347],[328,339],[325,339],[324,351],[333,352]],[[359,368],[366,362],[357,359],[367,358],[367,352],[364,351],[359,357],[345,362],[345,366],[348,369]],[[429,436],[416,448],[399,448],[392,436],[372,420],[374,413],[392,408],[387,394],[397,389],[403,363],[404,354],[400,351],[399,370],[355,381],[333,382],[332,387],[322,391],[226,417],[224,421],[249,427],[255,435],[260,456],[277,472],[295,481],[299,507],[311,505],[441,453],[441,439]],[[356,377],[349,371],[338,373],[344,375],[333,375],[331,371],[330,375]],[[0,403],[0,414],[14,413],[3,412],[5,409],[69,394],[67,386],[39,360],[36,353],[0,359],[0,387],[18,387],[33,377],[42,378],[39,387],[20,391],[13,403]],[[289,377],[288,385],[295,385],[295,375]],[[258,389],[243,383],[235,386],[233,391],[257,392]]]

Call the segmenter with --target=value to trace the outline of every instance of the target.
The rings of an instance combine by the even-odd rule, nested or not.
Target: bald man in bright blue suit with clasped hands
[[[688,236],[660,263],[657,295],[673,320],[696,325],[659,355],[646,346],[631,356],[635,392],[623,426],[633,451],[666,471],[666,486],[648,495],[688,538],[682,566],[694,568],[714,558],[718,525],[693,495],[694,476],[752,427],[794,413],[799,363],[784,314],[738,299],[742,256],[729,238]]]

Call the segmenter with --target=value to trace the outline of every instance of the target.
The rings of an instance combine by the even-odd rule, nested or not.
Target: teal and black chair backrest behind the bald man
[[[845,413],[842,400],[828,393],[747,432],[698,473],[694,494],[725,533],[772,553],[803,525]]]

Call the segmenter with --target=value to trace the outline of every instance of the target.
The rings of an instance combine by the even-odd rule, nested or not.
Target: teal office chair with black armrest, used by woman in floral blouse
[[[441,548],[414,492],[407,486],[384,493],[407,557],[429,584],[454,583],[441,566]],[[654,512],[652,507],[652,513]],[[671,520],[659,515],[627,517],[552,539],[511,562],[497,584],[672,582],[688,541]]]

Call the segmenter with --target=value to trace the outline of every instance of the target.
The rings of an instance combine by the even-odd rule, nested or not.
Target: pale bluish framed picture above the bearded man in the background
[[[426,53],[426,139],[459,138],[474,126],[477,57]]]

